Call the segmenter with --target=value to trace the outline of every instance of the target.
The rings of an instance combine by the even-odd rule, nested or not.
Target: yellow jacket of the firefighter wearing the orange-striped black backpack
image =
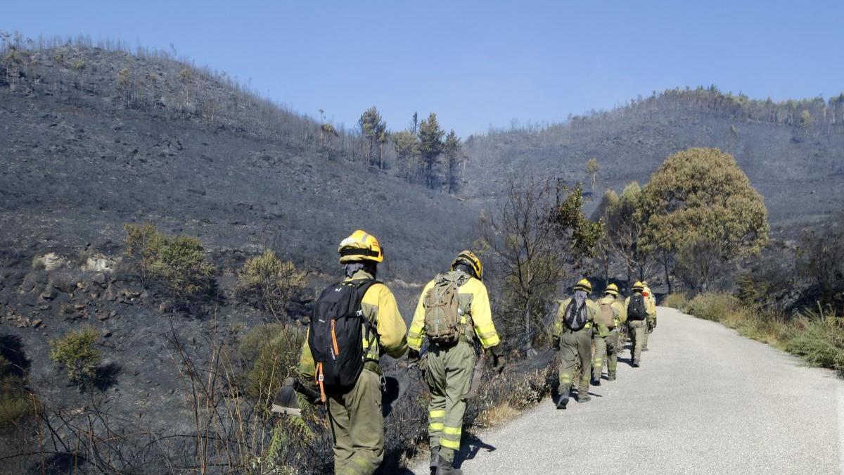
[[[371,274],[365,270],[358,270],[354,273],[354,276],[347,277],[344,281],[371,278]],[[367,361],[377,362],[381,350],[387,352],[393,358],[402,356],[408,348],[407,338],[405,337],[408,327],[404,325],[402,314],[398,311],[396,298],[392,295],[390,289],[381,283],[373,284],[366,290],[364,298],[360,302],[360,308],[363,310],[364,317],[376,329],[377,334],[372,336],[372,341],[366,341],[366,332],[364,332],[364,341],[361,344],[365,350],[368,350]],[[299,373],[303,378],[313,379],[315,372],[314,358],[311,355],[311,347],[308,347],[306,336],[299,358]]]

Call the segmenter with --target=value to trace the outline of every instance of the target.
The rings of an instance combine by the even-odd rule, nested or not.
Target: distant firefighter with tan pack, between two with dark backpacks
[[[609,381],[615,380],[616,369],[618,369],[619,330],[627,321],[627,313],[624,302],[619,298],[617,285],[609,284],[603,291],[603,297],[598,300],[596,315],[603,321],[595,325],[592,330],[592,345],[595,347],[595,356],[592,361],[592,385],[601,384],[604,358],[607,362]]]

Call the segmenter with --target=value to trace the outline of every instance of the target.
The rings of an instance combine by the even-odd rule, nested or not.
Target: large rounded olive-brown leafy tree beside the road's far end
[[[642,243],[678,258],[695,274],[694,290],[706,291],[715,276],[700,259],[757,254],[768,241],[765,201],[733,156],[693,148],[669,156],[641,192]]]

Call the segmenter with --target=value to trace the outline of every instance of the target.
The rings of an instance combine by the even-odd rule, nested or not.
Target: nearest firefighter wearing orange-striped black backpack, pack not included
[[[360,345],[364,364],[354,385],[344,389],[324,387],[322,399],[327,406],[328,423],[334,439],[334,473],[367,475],[375,472],[384,458],[381,366],[378,358],[381,352],[393,358],[404,354],[407,326],[390,289],[380,282],[372,282],[376,278],[378,263],[384,259],[378,240],[358,230],[340,243],[338,252],[340,264],[345,270],[341,286],[362,288],[367,285],[360,299],[366,327],[360,332],[363,336]],[[317,365],[307,338],[302,347],[299,372],[306,380],[313,381],[317,377]]]

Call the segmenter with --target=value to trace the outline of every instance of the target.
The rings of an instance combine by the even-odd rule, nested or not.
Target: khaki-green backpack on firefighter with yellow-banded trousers
[[[425,294],[425,335],[437,345],[450,345],[460,340],[463,311],[457,298],[457,289],[466,276],[457,272],[438,274],[434,287]]]

